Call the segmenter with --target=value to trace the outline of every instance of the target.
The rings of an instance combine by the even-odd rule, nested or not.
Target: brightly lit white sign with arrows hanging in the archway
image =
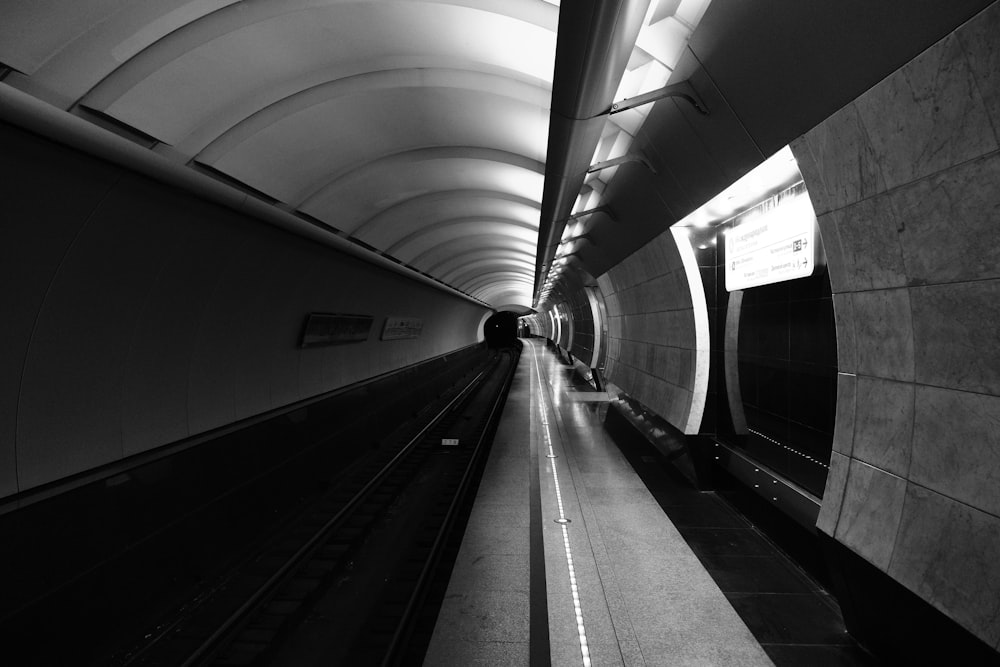
[[[726,232],[726,291],[806,278],[816,268],[816,214],[806,194]]]

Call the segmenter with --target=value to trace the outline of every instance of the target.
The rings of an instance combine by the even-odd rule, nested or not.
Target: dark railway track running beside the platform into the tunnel
[[[436,615],[428,623],[424,601],[449,536],[464,525],[516,362],[516,352],[498,353],[416,435],[357,466],[116,664],[418,660]]]

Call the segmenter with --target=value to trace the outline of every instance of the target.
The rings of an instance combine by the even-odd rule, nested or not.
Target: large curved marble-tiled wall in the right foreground
[[[818,526],[1000,648],[1000,3],[792,144],[840,374]]]

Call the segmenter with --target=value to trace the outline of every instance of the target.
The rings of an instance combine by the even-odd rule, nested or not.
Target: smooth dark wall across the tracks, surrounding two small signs
[[[477,342],[488,309],[0,126],[0,497]],[[310,312],[374,317],[301,349]],[[386,317],[419,338],[380,341]]]

